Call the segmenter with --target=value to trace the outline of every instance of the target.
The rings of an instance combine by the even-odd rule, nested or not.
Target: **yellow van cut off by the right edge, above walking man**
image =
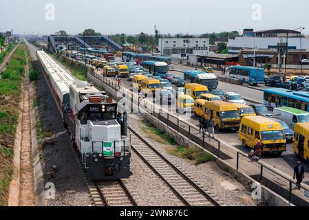
[[[309,161],[309,123],[297,123],[294,127],[293,150]]]

